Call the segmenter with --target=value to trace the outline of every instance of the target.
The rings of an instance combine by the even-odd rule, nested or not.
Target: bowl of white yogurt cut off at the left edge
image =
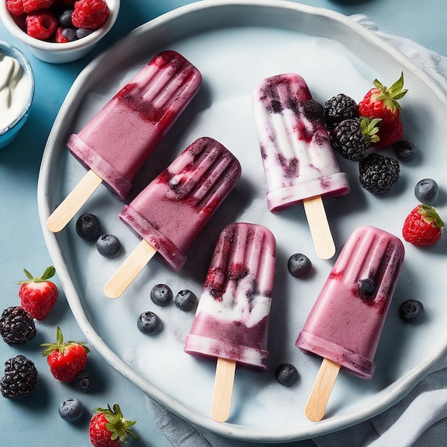
[[[0,148],[11,143],[25,124],[33,97],[29,61],[14,46],[0,41]]]

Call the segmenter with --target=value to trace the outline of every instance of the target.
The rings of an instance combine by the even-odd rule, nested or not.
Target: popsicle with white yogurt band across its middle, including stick
[[[268,228],[236,223],[221,232],[184,351],[217,361],[211,416],[229,416],[236,365],[267,367],[276,240]]]

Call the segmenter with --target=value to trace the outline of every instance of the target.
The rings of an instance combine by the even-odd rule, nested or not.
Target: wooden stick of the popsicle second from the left
[[[104,286],[106,296],[108,298],[121,296],[156,252],[156,249],[143,239],[107,281]]]

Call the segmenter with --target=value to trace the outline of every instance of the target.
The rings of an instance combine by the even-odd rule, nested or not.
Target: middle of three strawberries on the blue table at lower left
[[[56,343],[42,343],[42,348],[46,348],[42,353],[46,357],[46,362],[50,367],[50,372],[54,378],[61,382],[72,382],[86,366],[87,353],[90,349],[82,341],[67,341],[64,343],[64,336],[61,328],[56,328]]]

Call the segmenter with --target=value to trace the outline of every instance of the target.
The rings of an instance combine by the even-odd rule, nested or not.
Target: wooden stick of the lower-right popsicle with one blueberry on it
[[[304,414],[309,421],[318,422],[323,418],[340,367],[340,363],[323,358],[320,370],[313,384],[311,396],[309,396],[306,408],[304,409]]]

